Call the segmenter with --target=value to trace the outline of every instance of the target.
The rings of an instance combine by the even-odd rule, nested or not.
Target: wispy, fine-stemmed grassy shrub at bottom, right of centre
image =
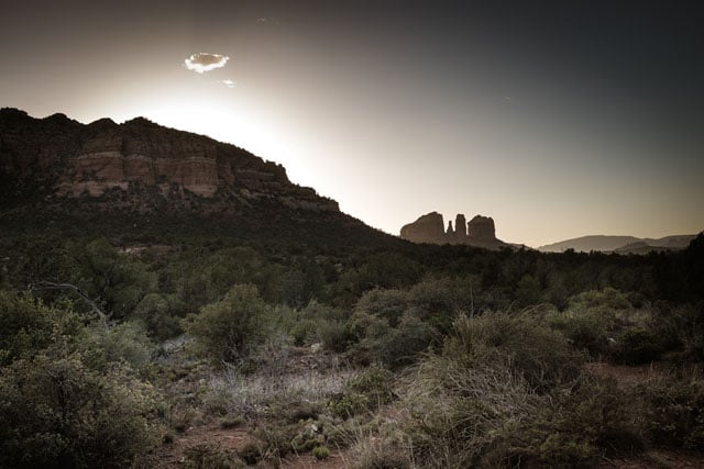
[[[411,367],[402,382],[404,425],[413,460],[420,467],[482,465],[502,447],[510,428],[531,418],[542,399],[496,349],[474,355],[431,354]],[[497,458],[501,459],[501,458]]]

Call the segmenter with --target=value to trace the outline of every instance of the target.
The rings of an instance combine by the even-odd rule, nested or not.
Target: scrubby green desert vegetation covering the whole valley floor
[[[246,443],[189,446],[184,467],[595,467],[704,447],[704,235],[627,257],[134,241],[0,246],[0,467],[165,467],[204,425]]]

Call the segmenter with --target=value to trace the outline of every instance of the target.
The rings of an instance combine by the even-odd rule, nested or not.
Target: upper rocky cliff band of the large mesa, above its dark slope
[[[31,188],[33,194],[55,200],[110,196],[111,204],[133,204],[140,198],[132,196],[146,190],[151,198],[161,194],[172,202],[211,200],[210,210],[227,211],[260,199],[275,199],[294,210],[339,210],[333,200],[292,183],[279,165],[141,118],[82,125],[63,114],[33,119],[2,109],[0,180],[6,198],[13,196],[10,190],[21,197]],[[136,202],[142,209],[150,205],[144,203],[148,200]]]

